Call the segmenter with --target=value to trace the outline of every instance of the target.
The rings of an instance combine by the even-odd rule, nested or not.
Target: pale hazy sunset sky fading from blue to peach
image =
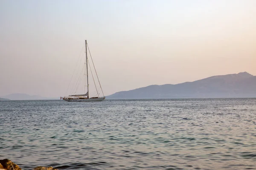
[[[256,0],[0,0],[0,96],[67,95],[85,39],[105,95],[256,75]]]

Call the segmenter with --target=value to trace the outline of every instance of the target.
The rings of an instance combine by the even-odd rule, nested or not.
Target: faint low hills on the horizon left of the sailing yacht
[[[9,94],[6,96],[2,96],[3,98],[11,99],[11,100],[52,100],[52,99],[57,99],[57,98],[48,98],[48,97],[42,97],[39,95],[28,95],[28,94],[20,94],[20,93],[15,93],[15,94]],[[2,99],[3,99],[2,98]],[[1,98],[0,98],[1,100]]]

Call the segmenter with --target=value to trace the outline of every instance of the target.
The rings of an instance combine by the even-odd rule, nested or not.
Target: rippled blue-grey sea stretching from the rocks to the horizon
[[[256,170],[256,99],[0,101],[23,170]]]

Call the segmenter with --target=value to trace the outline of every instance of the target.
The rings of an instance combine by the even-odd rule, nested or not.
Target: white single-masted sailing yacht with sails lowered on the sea
[[[84,75],[85,75],[85,79],[87,79],[85,85],[84,85],[84,91],[85,89],[87,88],[87,93],[85,94],[73,94],[73,95],[69,95],[67,97],[63,97],[62,99],[67,101],[67,102],[100,102],[102,100],[105,99],[105,96],[103,94],[103,91],[102,91],[102,87],[100,85],[100,82],[99,82],[99,85],[100,85],[100,88],[101,88],[101,91],[102,91],[102,94],[103,94],[103,97],[100,97],[99,96],[99,93],[98,93],[98,89],[96,88],[96,91],[97,91],[97,95],[96,97],[89,97],[89,82],[88,82],[88,57],[87,57],[87,48],[88,48],[88,45],[87,45],[87,40],[85,40],[85,50],[84,50],[84,58],[85,58],[85,62],[84,62],[84,66],[85,66],[85,69],[84,69]],[[89,50],[90,52],[90,50]],[[95,69],[95,66],[93,64],[93,67]],[[96,72],[96,69],[95,69],[95,72]],[[97,78],[98,78],[98,81],[99,81],[99,77],[98,77],[98,74],[96,72],[96,75],[97,75]],[[94,78],[93,78],[93,81],[94,81]],[[95,81],[94,81],[94,84],[95,84]]]

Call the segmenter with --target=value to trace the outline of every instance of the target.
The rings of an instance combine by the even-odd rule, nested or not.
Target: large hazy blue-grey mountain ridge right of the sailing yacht
[[[176,85],[149,85],[120,91],[107,99],[256,97],[256,76],[247,72],[212,76]]]

